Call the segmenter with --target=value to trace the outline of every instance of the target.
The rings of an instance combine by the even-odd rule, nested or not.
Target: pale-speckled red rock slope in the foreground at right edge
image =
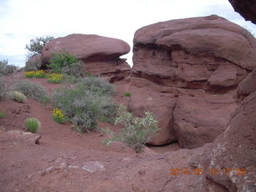
[[[256,91],[235,111],[224,134],[213,143],[207,169],[219,170],[209,178],[233,191],[256,191]],[[231,169],[230,174],[223,169]],[[222,173],[222,174],[221,174]]]

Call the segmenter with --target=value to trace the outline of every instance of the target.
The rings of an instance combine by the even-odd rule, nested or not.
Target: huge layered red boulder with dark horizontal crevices
[[[152,144],[195,148],[226,129],[238,83],[256,66],[256,39],[217,15],[158,22],[134,34],[133,61],[130,110],[156,111]]]

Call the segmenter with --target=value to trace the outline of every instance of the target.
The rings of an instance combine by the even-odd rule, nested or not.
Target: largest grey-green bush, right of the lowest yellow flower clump
[[[94,130],[97,120],[113,121],[116,106],[106,94],[91,91],[83,82],[54,91],[54,106],[74,123],[79,132]]]

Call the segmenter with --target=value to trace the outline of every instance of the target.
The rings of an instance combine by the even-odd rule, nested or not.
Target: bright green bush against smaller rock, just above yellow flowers
[[[62,54],[52,54],[50,58],[50,65],[54,73],[70,74],[75,77],[84,75],[84,65],[78,61],[78,58],[68,52]]]

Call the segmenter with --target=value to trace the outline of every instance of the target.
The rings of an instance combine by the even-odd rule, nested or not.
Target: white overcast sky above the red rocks
[[[228,0],[0,0],[0,60],[24,66],[31,38],[50,35],[98,34],[130,44],[142,26],[177,18],[218,14],[246,26]],[[132,51],[122,56],[131,65]]]

